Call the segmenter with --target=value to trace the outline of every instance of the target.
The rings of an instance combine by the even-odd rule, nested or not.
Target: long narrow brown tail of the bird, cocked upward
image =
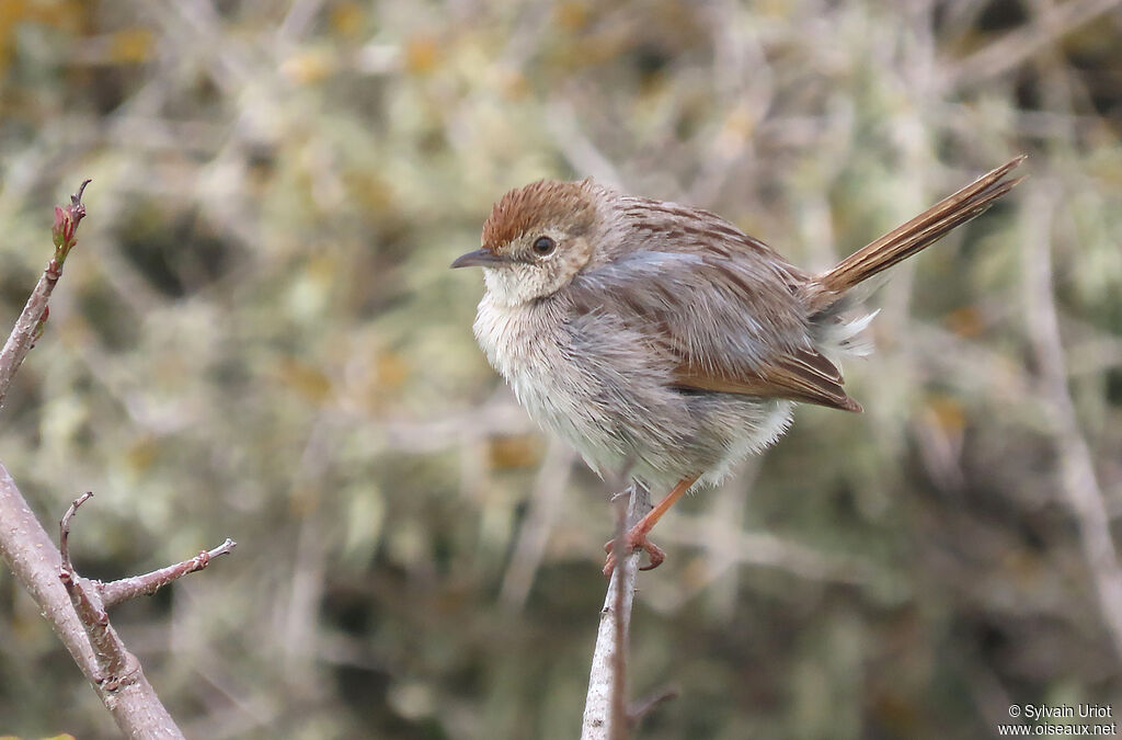
[[[1023,161],[1022,154],[982,175],[954,195],[944,198],[912,220],[898,226],[819,275],[811,283],[813,286],[811,289],[813,293],[810,295],[811,309],[828,308],[857,283],[911,257],[938,241],[955,227],[981,214],[995,200],[1021,182],[1021,177],[1008,180],[1005,176]]]

